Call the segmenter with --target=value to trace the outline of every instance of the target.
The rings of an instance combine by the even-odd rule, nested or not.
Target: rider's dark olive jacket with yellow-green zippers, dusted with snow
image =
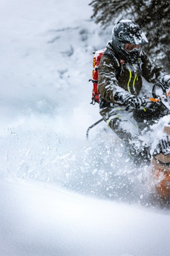
[[[122,64],[121,64],[122,62]],[[113,50],[111,42],[102,56],[98,67],[98,92],[100,94],[100,109],[102,115],[113,107],[116,103],[114,95],[116,92],[122,94],[139,95],[142,88],[142,76],[148,83],[157,81],[165,82],[164,77],[167,73],[162,68],[153,64],[146,53],[141,50],[140,57],[136,64],[129,64],[121,61]]]

